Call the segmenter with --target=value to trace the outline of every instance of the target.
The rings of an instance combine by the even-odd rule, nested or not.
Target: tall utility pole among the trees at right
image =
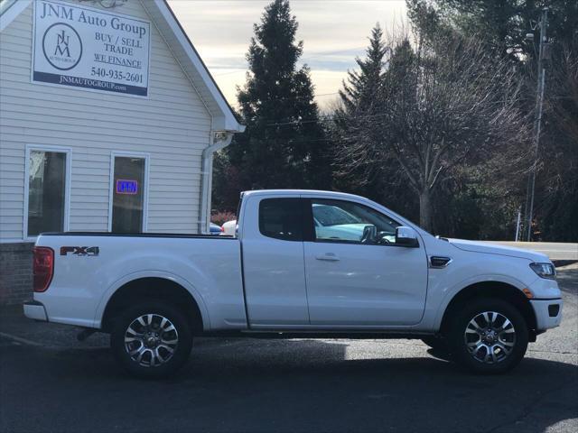
[[[540,19],[540,46],[538,51],[538,80],[536,86],[536,109],[534,117],[534,162],[532,171],[528,179],[527,190],[527,242],[532,240],[532,217],[534,214],[534,190],[536,188],[536,168],[538,162],[538,146],[540,144],[540,132],[542,130],[542,108],[544,106],[544,88],[545,88],[545,45],[546,45],[546,27],[548,25],[548,10],[544,8],[542,18]],[[529,207],[528,207],[529,201]]]

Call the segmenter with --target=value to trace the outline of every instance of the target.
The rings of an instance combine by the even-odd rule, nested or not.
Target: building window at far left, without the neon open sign
[[[68,157],[68,152],[29,152],[27,236],[65,230]]]

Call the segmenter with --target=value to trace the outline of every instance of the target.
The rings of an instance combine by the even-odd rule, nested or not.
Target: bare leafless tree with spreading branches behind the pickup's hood
[[[344,170],[392,156],[420,203],[420,225],[432,229],[433,192],[455,168],[527,146],[515,70],[480,42],[453,38],[443,46],[390,43],[380,113],[358,123],[340,152]],[[375,131],[378,130],[378,139]]]

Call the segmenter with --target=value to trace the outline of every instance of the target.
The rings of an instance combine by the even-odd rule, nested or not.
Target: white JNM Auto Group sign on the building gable
[[[148,96],[151,23],[87,6],[34,2],[33,82]]]

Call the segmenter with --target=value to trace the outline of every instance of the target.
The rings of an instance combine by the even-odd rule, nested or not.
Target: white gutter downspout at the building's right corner
[[[229,131],[212,131],[210,145],[202,151],[200,165],[200,213],[199,233],[209,233],[210,224],[210,196],[213,178],[213,153],[226,148],[233,139]]]

